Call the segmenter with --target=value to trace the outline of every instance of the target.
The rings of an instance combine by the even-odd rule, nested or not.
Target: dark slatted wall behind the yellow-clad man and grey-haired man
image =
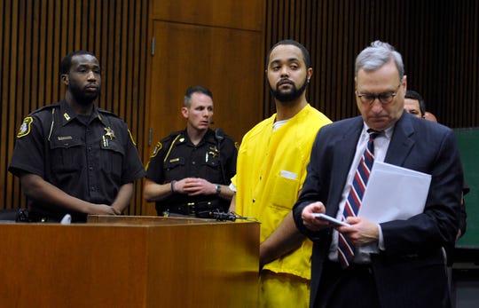
[[[374,40],[401,52],[408,88],[439,122],[479,126],[479,3],[475,0],[267,0],[264,52],[292,38],[310,51],[308,98],[332,120],[357,115],[354,63]],[[266,115],[274,105],[264,87]]]

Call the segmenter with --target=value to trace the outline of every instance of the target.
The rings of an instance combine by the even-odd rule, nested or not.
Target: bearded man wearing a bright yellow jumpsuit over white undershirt
[[[277,113],[243,137],[230,209],[261,222],[260,307],[308,307],[312,243],[297,231],[291,209],[313,141],[331,121],[306,100],[312,68],[301,43],[276,43],[266,65]]]

